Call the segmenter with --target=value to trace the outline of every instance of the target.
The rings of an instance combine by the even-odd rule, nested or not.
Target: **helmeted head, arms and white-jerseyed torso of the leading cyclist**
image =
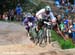
[[[38,11],[36,13],[36,17],[38,19],[46,19],[48,17],[50,17],[51,21],[54,23],[56,22],[56,18],[55,16],[53,15],[53,12],[51,11],[51,8],[50,6],[46,6],[45,8],[41,9],[40,11]]]

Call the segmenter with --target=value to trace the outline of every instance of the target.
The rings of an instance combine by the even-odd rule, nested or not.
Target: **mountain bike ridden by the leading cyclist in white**
[[[46,46],[47,42],[51,42],[51,30],[52,24],[51,22],[44,21],[44,25],[42,30],[39,31],[39,45],[44,47]],[[41,33],[40,33],[41,32]]]

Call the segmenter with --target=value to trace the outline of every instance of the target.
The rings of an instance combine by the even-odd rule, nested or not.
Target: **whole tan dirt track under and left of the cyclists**
[[[62,50],[57,42],[36,46],[22,25],[0,22],[0,55],[75,55],[72,50]]]

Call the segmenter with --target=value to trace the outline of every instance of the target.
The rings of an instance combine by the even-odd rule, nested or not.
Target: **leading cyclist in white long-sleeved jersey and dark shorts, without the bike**
[[[53,15],[53,12],[51,11],[51,7],[50,6],[46,6],[45,8],[41,9],[40,11],[38,11],[36,13],[36,17],[39,21],[38,23],[38,29],[40,29],[40,27],[42,27],[44,24],[43,24],[43,21],[44,19],[45,20],[48,20],[48,18],[53,22],[53,25],[56,24],[56,18],[55,16]]]

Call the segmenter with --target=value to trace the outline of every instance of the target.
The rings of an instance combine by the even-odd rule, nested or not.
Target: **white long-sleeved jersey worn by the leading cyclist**
[[[50,17],[51,20],[56,20],[56,18],[55,18],[54,15],[53,15],[53,12],[50,12],[50,14],[47,15],[47,14],[45,13],[45,9],[41,9],[40,11],[38,11],[38,12],[36,13],[36,17],[37,17],[38,19]]]

